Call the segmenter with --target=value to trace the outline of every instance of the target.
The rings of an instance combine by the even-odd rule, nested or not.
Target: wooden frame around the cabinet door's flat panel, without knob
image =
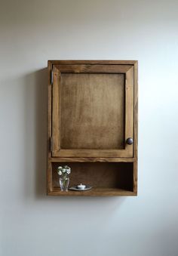
[[[64,73],[122,73],[125,75],[125,140],[133,137],[133,66],[123,65],[54,65],[53,67],[52,134],[54,157],[132,157],[133,145],[125,144],[123,150],[68,150],[60,147],[60,76]]]

